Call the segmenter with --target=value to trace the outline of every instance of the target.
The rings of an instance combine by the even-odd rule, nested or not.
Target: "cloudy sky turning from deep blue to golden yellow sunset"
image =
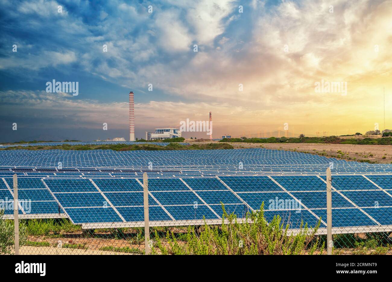
[[[209,111],[214,138],[391,129],[391,14],[391,0],[0,0],[0,142],[128,138],[130,91],[138,138]]]

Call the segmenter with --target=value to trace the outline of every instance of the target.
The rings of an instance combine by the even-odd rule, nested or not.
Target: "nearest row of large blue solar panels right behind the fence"
[[[290,217],[290,221],[299,216],[302,219],[307,216],[309,219],[314,219],[314,215],[319,216],[325,213],[326,193],[323,192],[325,183],[320,178],[315,176],[273,176],[273,178],[287,191],[302,192],[290,192],[289,194],[265,176],[222,177],[224,183],[235,194],[217,178],[185,178],[185,183],[191,189],[176,178],[150,180],[149,202],[153,207],[151,220],[202,219],[203,216],[207,219],[219,218],[221,202],[225,204],[229,212],[235,212],[238,217],[243,217],[249,207],[257,210],[263,201],[266,205],[269,204],[266,207],[267,214],[284,216],[287,213],[294,213]],[[383,218],[385,214],[390,212],[389,206],[392,206],[390,196],[392,191],[388,189],[391,188],[392,176],[369,176],[369,178],[379,187],[363,176],[339,176],[333,179],[333,185],[340,190],[332,193],[332,207],[344,208],[344,211],[334,210],[336,213],[356,213],[358,220],[352,221],[351,224],[368,221],[370,217],[363,212],[365,210],[373,217],[370,220],[374,224],[377,224],[376,218],[380,219],[380,224],[388,222],[387,217],[385,220]],[[12,187],[11,179],[6,179],[6,182],[9,187]],[[142,186],[135,179],[98,179],[93,180],[94,183],[89,180],[45,179],[44,182],[76,224],[117,222],[118,220],[113,219],[119,217],[119,214],[122,215],[119,217],[120,222],[143,220]],[[8,189],[7,185],[3,183],[0,186],[2,199],[6,199],[6,197],[12,199],[13,197],[10,192],[12,189]],[[19,181],[18,187],[20,188],[21,204],[28,205],[24,199],[32,201],[30,210],[27,212],[50,214],[59,212],[58,205],[42,181],[36,178],[24,178]],[[289,203],[291,206],[280,206],[279,203]],[[306,208],[303,208],[301,203]],[[197,208],[194,208],[195,205]],[[358,207],[366,208],[359,209]],[[288,209],[295,211],[288,211]],[[298,210],[300,212],[297,214]],[[23,212],[26,211],[23,210]],[[297,224],[299,223],[300,221],[297,221]],[[361,225],[363,225],[362,223]]]

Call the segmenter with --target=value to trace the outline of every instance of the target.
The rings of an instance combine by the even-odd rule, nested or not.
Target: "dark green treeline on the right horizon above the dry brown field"
[[[325,144],[353,144],[353,145],[392,145],[392,137],[387,138],[339,138],[337,136],[328,137],[270,137],[270,138],[224,138],[219,142],[243,142],[243,143],[325,143]]]

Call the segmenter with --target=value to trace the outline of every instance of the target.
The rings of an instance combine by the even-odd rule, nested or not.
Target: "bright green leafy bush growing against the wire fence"
[[[151,253],[158,254],[195,254],[195,255],[272,255],[272,254],[312,254],[319,246],[315,234],[320,221],[314,229],[301,223],[297,235],[289,235],[289,225],[275,216],[270,223],[264,217],[264,203],[260,211],[248,213],[245,223],[238,223],[234,214],[228,215],[223,208],[223,221],[220,226],[205,224],[201,232],[189,226],[185,244],[179,244],[174,233],[167,232],[169,246],[163,246],[158,232],[156,244]],[[227,218],[228,223],[224,219]],[[248,222],[248,219],[252,223]],[[157,249],[156,249],[157,247]]]

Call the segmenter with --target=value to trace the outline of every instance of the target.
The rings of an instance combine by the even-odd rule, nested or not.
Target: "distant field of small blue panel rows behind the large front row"
[[[243,173],[254,171],[263,174],[323,174],[330,163],[335,173],[391,173],[387,164],[346,162],[312,154],[267,150],[262,148],[238,150],[183,150],[183,151],[73,151],[73,150],[11,150],[0,151],[0,165],[34,165],[53,167],[61,162],[63,167],[129,167],[140,170],[149,163],[156,169],[203,170]],[[241,169],[238,163],[243,166]],[[273,165],[271,165],[273,163]],[[42,169],[42,168],[41,168]],[[50,169],[45,172],[50,172]],[[68,168],[65,168],[68,169]],[[85,170],[89,170],[85,168]],[[91,168],[91,170],[93,170]],[[101,171],[108,171],[101,169]],[[43,169],[42,169],[43,171]],[[52,171],[52,172],[53,172]],[[113,171],[113,169],[111,169]],[[191,172],[190,172],[191,173]]]

